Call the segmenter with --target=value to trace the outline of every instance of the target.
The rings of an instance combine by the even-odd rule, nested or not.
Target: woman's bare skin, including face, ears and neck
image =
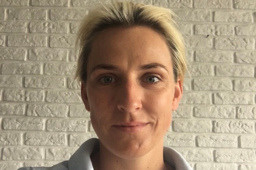
[[[182,93],[159,33],[143,26],[101,31],[92,43],[87,80],[81,86],[100,139],[100,151],[91,155],[94,168],[172,169],[163,161],[163,138]],[[135,127],[134,122],[142,125]]]

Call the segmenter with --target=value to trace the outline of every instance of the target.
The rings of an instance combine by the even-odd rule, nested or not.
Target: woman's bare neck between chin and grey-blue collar
[[[100,143],[99,152],[91,155],[91,161],[95,170],[167,170],[171,169],[163,161],[163,143],[159,142],[151,151],[136,158],[122,158],[111,153]]]

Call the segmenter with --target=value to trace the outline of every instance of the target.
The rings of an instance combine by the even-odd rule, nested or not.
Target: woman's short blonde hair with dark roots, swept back
[[[180,78],[183,83],[187,69],[184,42],[172,19],[174,15],[170,9],[133,2],[111,1],[97,6],[85,16],[77,34],[76,50],[79,58],[75,78],[86,81],[91,43],[101,30],[116,26],[146,26],[165,38],[171,53],[174,81]]]

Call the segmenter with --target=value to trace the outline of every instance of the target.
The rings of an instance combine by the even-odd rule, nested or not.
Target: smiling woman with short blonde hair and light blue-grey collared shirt
[[[86,16],[77,38],[76,78],[99,139],[51,168],[19,170],[191,170],[163,146],[186,70],[172,15],[161,7],[111,2]]]

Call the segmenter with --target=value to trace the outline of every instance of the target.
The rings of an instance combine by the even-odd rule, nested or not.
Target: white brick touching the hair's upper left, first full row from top
[[[56,9],[50,11],[51,20],[81,20],[86,15],[81,9]]]

